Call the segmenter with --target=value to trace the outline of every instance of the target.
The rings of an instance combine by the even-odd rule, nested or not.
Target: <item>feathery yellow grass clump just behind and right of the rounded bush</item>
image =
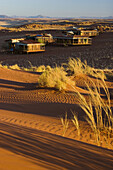
[[[96,78],[103,78],[106,79],[103,70],[97,70],[87,65],[87,62],[84,63],[79,59],[69,58],[69,62],[66,65],[66,71],[71,75],[79,75],[79,74],[86,74],[89,76],[93,76]]]

